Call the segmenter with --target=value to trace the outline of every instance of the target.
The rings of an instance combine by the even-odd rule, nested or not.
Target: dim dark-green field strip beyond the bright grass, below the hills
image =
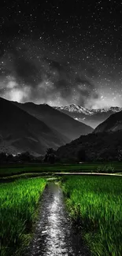
[[[107,166],[112,165],[114,173],[122,173],[122,162],[111,163],[83,163],[83,164],[11,164],[3,165],[0,169],[0,177],[12,176],[22,173],[54,173],[54,172],[96,172],[98,169],[105,172]],[[106,168],[104,168],[104,166]]]

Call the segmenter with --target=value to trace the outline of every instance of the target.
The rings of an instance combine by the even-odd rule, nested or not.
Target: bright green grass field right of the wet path
[[[62,184],[73,221],[95,256],[122,255],[122,178],[65,177]]]

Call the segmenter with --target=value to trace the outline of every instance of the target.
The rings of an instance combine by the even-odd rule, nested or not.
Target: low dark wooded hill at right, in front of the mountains
[[[81,135],[59,147],[61,161],[114,161],[122,160],[122,131]]]

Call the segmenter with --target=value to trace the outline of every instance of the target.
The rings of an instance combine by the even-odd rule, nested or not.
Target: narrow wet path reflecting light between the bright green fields
[[[39,207],[39,221],[28,255],[90,256],[81,236],[68,219],[61,187],[48,184]]]

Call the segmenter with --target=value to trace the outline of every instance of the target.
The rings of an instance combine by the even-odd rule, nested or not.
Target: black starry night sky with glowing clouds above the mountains
[[[122,106],[122,1],[0,3],[0,96]]]

